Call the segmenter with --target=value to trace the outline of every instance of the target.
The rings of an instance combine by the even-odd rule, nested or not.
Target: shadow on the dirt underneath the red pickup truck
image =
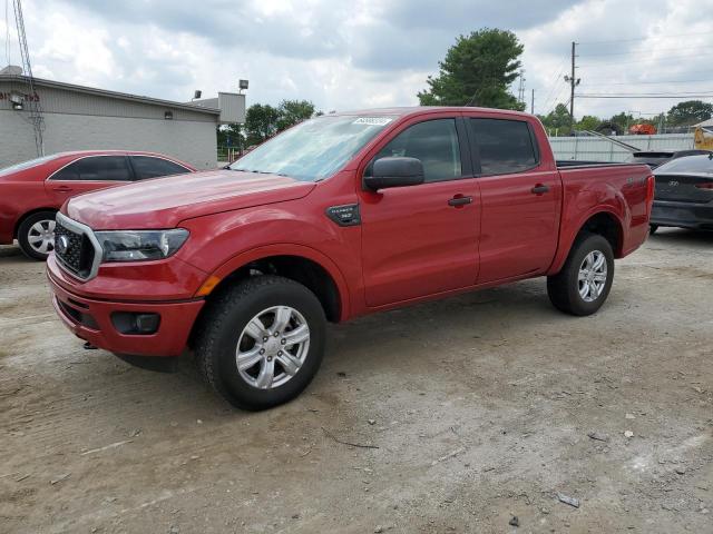
[[[544,279],[540,279],[330,325],[322,368],[303,397],[332,395],[336,387],[334,383],[343,372],[354,382],[392,372],[394,366],[403,365],[407,356],[414,368],[423,368],[429,364],[430,354],[423,347],[439,345],[443,339],[468,345],[475,354],[478,350],[486,353],[494,343],[507,343],[508,332],[512,328],[522,329],[526,325],[537,329],[555,319],[566,322],[572,318],[550,307]],[[187,411],[195,416],[216,412],[231,412],[233,416],[248,414],[231,408],[209,390],[188,350],[180,357],[177,373],[169,374],[135,368],[102,350],[87,354],[92,365],[77,366],[71,379],[81,388],[85,382],[96,384],[98,368],[109,380],[115,376],[108,386],[113,393],[102,392],[102,409],[111,412],[123,400],[130,403],[144,397],[152,398],[155,407],[164,405],[159,411]],[[117,403],[109,402],[111,395],[117,397]],[[111,418],[109,413],[106,416]]]

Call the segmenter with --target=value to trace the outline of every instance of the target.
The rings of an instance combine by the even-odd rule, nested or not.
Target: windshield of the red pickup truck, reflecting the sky
[[[228,168],[319,181],[342,168],[393,119],[328,116],[306,120],[264,142]]]

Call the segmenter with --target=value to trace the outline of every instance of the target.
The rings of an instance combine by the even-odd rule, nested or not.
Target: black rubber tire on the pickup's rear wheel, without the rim
[[[606,283],[598,296],[587,301],[579,294],[579,268],[589,253],[599,251],[606,260]],[[612,245],[603,236],[595,234],[583,234],[579,236],[569,251],[567,261],[561,270],[547,277],[547,294],[553,305],[570,315],[585,316],[597,312],[612,289],[614,280],[614,253]],[[588,295],[592,298],[592,295]]]

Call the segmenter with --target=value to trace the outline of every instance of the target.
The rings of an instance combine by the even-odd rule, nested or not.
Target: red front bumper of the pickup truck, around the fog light
[[[77,337],[111,353],[134,356],[178,356],[186,347],[191,328],[205,301],[127,303],[86,298],[61,287],[48,269],[52,304],[57,315]],[[121,334],[114,325],[116,312],[158,314],[154,334]]]

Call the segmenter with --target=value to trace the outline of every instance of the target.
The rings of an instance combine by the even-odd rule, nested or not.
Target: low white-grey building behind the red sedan
[[[198,169],[216,166],[216,128],[244,122],[245,96],[221,92],[201,102],[173,102],[0,71],[0,168],[45,155],[117,149],[165,154]],[[39,116],[40,120],[33,120]]]

